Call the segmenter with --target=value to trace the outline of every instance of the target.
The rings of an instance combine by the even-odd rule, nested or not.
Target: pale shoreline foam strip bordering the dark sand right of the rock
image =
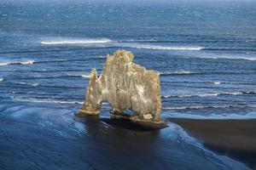
[[[238,114],[211,114],[208,116],[202,115],[195,115],[195,114],[188,114],[188,113],[163,113],[165,117],[172,117],[172,118],[188,118],[188,119],[212,119],[212,120],[228,120],[228,119],[236,119],[236,120],[247,120],[247,119],[256,119],[256,112],[249,112],[245,115],[238,115]]]

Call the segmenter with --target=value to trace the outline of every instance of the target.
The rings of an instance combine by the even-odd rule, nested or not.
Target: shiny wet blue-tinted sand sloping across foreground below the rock
[[[148,128],[107,116],[81,118],[60,108],[12,104],[0,109],[1,170],[249,169],[202,148],[175,123]]]

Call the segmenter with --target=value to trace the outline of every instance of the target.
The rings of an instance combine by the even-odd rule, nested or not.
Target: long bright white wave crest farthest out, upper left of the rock
[[[40,42],[44,45],[57,45],[57,44],[83,44],[83,43],[107,43],[112,42],[110,39],[67,39],[67,40],[56,40],[56,41],[43,41]]]

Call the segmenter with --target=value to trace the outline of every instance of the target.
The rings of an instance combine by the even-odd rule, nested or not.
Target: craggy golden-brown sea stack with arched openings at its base
[[[86,99],[79,115],[99,115],[102,101],[107,100],[114,118],[160,122],[161,98],[159,73],[132,62],[130,51],[118,50],[107,55],[102,75],[90,72]],[[134,112],[132,116],[125,110]]]

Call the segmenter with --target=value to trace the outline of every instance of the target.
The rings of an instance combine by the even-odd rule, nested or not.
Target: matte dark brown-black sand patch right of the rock
[[[256,119],[252,120],[195,120],[171,118],[200,139],[209,149],[235,158],[256,168]]]

